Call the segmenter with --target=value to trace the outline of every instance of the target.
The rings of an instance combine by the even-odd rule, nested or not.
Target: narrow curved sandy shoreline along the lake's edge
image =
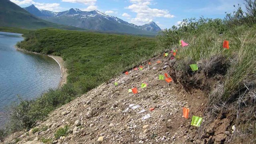
[[[16,45],[14,46],[14,48],[16,48],[16,50],[22,51],[22,52],[28,52],[28,53],[33,53],[33,54],[40,54],[38,52],[30,52],[28,50],[23,50],[21,48],[18,48]],[[45,55],[45,54],[40,54],[40,55]],[[61,73],[61,78],[60,78],[60,82],[58,84],[57,88],[61,88],[64,84],[66,84],[67,82],[67,69],[64,66],[64,60],[62,59],[62,57],[60,56],[52,56],[52,55],[47,55],[50,58],[54,59],[58,65],[60,66],[60,73]]]

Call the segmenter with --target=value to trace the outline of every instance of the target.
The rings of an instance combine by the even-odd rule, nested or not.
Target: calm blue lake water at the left
[[[23,99],[40,96],[49,88],[57,88],[60,67],[48,56],[20,52],[14,48],[21,34],[0,32],[0,126],[6,122],[9,106]]]

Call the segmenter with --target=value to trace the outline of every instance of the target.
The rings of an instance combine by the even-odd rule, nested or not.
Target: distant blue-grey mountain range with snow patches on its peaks
[[[82,11],[71,8],[64,12],[51,12],[49,10],[38,10],[33,4],[24,8],[34,16],[38,16],[49,22],[85,28],[98,31],[124,32],[130,34],[156,34],[161,30],[159,26],[150,22],[143,26],[130,24],[120,18],[110,16],[98,10]]]

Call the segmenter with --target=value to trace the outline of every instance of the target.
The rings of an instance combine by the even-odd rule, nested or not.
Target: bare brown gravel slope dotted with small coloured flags
[[[157,64],[156,61],[161,63]],[[184,106],[201,107],[206,98],[200,93],[200,99],[192,99],[195,95],[185,94],[178,85],[158,80],[159,74],[170,70],[162,68],[168,63],[170,57],[152,58],[152,64],[143,63],[143,70],[130,70],[128,75],[122,74],[112,80],[110,84],[102,84],[80,98],[58,108],[46,120],[36,126],[46,131],[26,134],[20,132],[22,138],[18,144],[49,141],[68,144],[96,144],[100,136],[104,136],[105,144],[116,143],[174,143],[185,144],[191,140],[190,132],[185,132],[190,125],[190,119],[182,118]],[[118,86],[114,86],[118,82]],[[146,82],[146,88],[140,84]],[[137,87],[138,94],[128,92],[129,88]],[[132,110],[130,104],[140,107]],[[154,108],[150,111],[150,108]],[[141,110],[146,110],[138,114]],[[192,114],[197,110],[192,110]],[[197,112],[198,113],[198,112]],[[142,120],[146,114],[151,118]],[[75,124],[79,121],[79,124]],[[178,125],[178,123],[181,124]],[[57,130],[68,126],[68,133],[61,138],[55,138]],[[48,130],[47,130],[48,129]],[[193,131],[193,130],[191,130]],[[27,132],[28,133],[28,132]],[[16,137],[9,137],[8,140]],[[6,140],[6,142],[8,142]]]

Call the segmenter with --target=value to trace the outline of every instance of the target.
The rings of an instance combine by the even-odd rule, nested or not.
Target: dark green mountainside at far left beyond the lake
[[[72,26],[54,24],[37,18],[9,0],[0,0],[0,26],[26,29],[52,27],[67,30],[83,30]]]

